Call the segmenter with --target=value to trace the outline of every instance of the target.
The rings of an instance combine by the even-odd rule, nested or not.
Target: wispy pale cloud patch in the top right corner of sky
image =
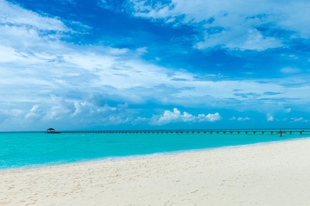
[[[173,24],[188,24],[200,31],[196,47],[219,46],[240,50],[265,50],[283,46],[282,39],[264,36],[256,28],[267,24],[294,31],[292,37],[310,37],[307,27],[310,2],[270,0],[130,0],[133,15]],[[199,40],[201,39],[201,40]]]

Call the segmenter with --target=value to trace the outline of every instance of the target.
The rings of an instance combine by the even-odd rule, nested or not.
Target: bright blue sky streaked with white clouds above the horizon
[[[310,128],[309,0],[0,0],[0,131]]]

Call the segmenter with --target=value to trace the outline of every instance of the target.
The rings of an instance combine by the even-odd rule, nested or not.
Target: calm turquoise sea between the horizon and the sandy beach
[[[0,170],[162,156],[310,138],[310,129],[284,129],[286,133],[282,136],[276,133],[279,130],[0,132]],[[299,131],[303,131],[302,134]]]

